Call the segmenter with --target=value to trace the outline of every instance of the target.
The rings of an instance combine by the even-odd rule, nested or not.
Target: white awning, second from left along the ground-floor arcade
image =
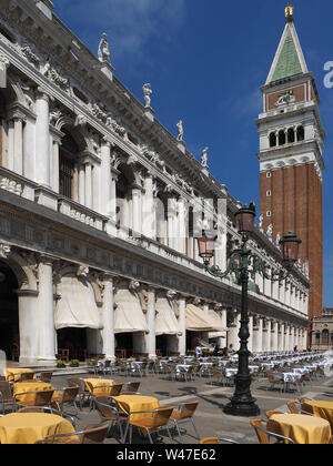
[[[149,332],[137,293],[121,288],[114,296],[114,333]]]

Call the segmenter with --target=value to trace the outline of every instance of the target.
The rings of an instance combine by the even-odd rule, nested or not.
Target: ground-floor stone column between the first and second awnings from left
[[[102,307],[102,323],[101,331],[103,340],[102,353],[105,354],[107,359],[114,361],[114,312],[113,312],[113,277],[111,275],[103,276],[103,307]]]

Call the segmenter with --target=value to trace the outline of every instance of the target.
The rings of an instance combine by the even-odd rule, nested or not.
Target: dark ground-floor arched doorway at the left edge
[[[0,262],[0,350],[11,361],[19,361],[20,356],[18,287],[12,270]]]

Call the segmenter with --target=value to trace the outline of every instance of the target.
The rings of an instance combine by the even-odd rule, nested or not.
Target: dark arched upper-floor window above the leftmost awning
[[[79,148],[70,133],[64,133],[59,151],[59,194],[73,199],[73,172]]]

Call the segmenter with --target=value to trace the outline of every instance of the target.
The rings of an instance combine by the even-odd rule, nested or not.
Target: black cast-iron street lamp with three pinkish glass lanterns
[[[241,346],[238,352],[239,372],[235,377],[234,395],[231,398],[231,402],[224,407],[225,414],[242,417],[254,417],[260,414],[260,408],[255,404],[256,399],[251,395],[251,374],[249,371],[249,277],[251,275],[252,280],[254,280],[255,274],[260,273],[272,282],[285,280],[297,261],[299,247],[302,243],[302,241],[292,233],[285,235],[283,240],[280,241],[284,267],[270,269],[270,271],[268,271],[264,261],[246,247],[246,243],[254,229],[254,219],[255,205],[253,203],[249,206],[243,206],[235,213],[236,229],[242,235],[242,245],[231,253],[225,272],[222,272],[216,265],[210,265],[210,260],[214,256],[215,252],[214,245],[216,236],[213,234],[208,235],[203,232],[202,237],[198,239],[199,254],[203,259],[206,272],[219,278],[223,278],[226,275],[234,273],[238,283],[242,285],[241,328],[239,333]]]

